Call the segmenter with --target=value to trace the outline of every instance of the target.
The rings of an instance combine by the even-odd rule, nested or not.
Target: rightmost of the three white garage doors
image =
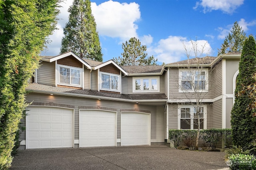
[[[150,145],[150,114],[121,113],[121,146]]]

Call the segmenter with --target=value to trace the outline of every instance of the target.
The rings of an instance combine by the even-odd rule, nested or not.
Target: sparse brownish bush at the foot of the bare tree
[[[190,149],[195,150],[196,147],[197,130],[185,130],[183,131],[183,142]]]

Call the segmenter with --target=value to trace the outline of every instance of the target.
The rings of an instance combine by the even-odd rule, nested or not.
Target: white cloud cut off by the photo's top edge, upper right
[[[204,13],[221,10],[224,13],[232,14],[243,3],[244,0],[200,0],[200,2],[196,2],[194,9],[202,6]]]

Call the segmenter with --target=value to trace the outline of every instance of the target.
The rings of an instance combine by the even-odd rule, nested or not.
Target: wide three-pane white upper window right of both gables
[[[159,76],[133,77],[132,92],[160,92]]]

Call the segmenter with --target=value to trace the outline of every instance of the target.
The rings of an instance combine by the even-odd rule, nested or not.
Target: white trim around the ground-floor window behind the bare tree
[[[207,106],[206,105],[202,105],[200,107],[204,107],[204,129],[207,129]],[[194,106],[193,105],[178,105],[178,129],[180,129],[180,119],[181,119],[181,117],[180,117],[180,109],[181,108],[190,108],[190,110],[193,111],[194,110]],[[191,117],[190,117],[191,121],[190,122],[193,122],[194,116],[193,116],[192,113],[190,113],[190,115],[191,115]],[[193,124],[194,124],[194,122],[193,122]],[[193,129],[193,124],[192,123],[190,124],[190,129],[184,129],[184,130],[191,130],[191,129]],[[196,129],[194,129],[194,130],[196,130]]]

